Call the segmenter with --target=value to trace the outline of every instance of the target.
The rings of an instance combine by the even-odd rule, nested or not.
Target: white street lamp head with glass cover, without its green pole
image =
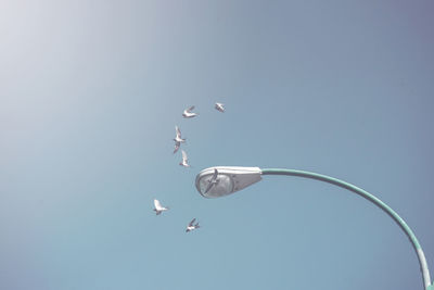
[[[196,189],[205,198],[219,198],[239,191],[261,179],[259,167],[216,166],[196,176]]]

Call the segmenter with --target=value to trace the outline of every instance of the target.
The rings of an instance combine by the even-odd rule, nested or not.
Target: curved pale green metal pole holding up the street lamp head
[[[416,238],[413,231],[410,229],[410,227],[406,224],[406,222],[404,222],[404,219],[394,210],[392,210],[387,204],[382,202],[380,199],[375,198],[368,191],[362,190],[361,188],[358,188],[352,184],[345,182],[343,180],[340,180],[340,179],[336,179],[336,178],[333,178],[333,177],[330,177],[327,175],[304,172],[304,171],[295,171],[295,169],[282,169],[282,168],[265,168],[265,169],[261,169],[261,172],[263,172],[263,175],[298,176],[298,177],[311,178],[311,179],[317,179],[320,181],[329,182],[329,184],[348,189],[348,190],[361,196],[362,198],[371,201],[372,203],[374,203],[381,210],[386,212],[396,222],[396,224],[398,224],[398,226],[404,230],[404,232],[407,235],[407,237],[410,240],[412,247],[414,248],[414,251],[419,259],[419,264],[420,264],[420,268],[422,272],[424,289],[425,290],[434,290],[434,283],[433,285],[431,283],[430,272],[427,269],[425,255],[423,254],[422,248],[420,247],[419,241]]]

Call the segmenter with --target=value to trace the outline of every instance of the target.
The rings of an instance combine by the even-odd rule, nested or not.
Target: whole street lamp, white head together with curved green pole
[[[430,272],[427,269],[425,255],[423,254],[422,248],[420,247],[419,241],[416,238],[413,231],[406,224],[406,222],[404,222],[404,219],[387,204],[385,204],[384,202],[382,202],[368,191],[362,190],[361,188],[358,188],[343,180],[316,173],[295,171],[295,169],[281,169],[281,168],[260,169],[259,167],[235,167],[235,166],[216,166],[203,169],[197,174],[195,185],[197,191],[203,197],[219,198],[231,194],[235,191],[239,191],[245,187],[248,187],[250,185],[259,181],[263,175],[289,175],[289,176],[298,176],[298,177],[317,179],[320,181],[329,182],[348,189],[349,191],[353,191],[361,196],[362,198],[369,200],[370,202],[374,203],[381,210],[386,212],[386,214],[388,214],[407,235],[419,259],[424,289],[434,290],[434,283],[433,285],[431,283]]]

